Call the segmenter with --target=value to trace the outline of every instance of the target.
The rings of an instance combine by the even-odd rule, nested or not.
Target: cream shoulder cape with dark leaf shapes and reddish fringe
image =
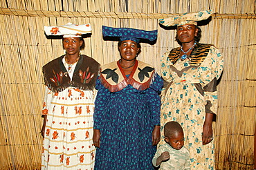
[[[126,77],[118,61],[102,66],[100,81],[111,92],[121,91],[129,84],[139,91],[144,91],[152,84],[154,75],[155,70],[153,66],[136,60],[134,69],[129,77]]]

